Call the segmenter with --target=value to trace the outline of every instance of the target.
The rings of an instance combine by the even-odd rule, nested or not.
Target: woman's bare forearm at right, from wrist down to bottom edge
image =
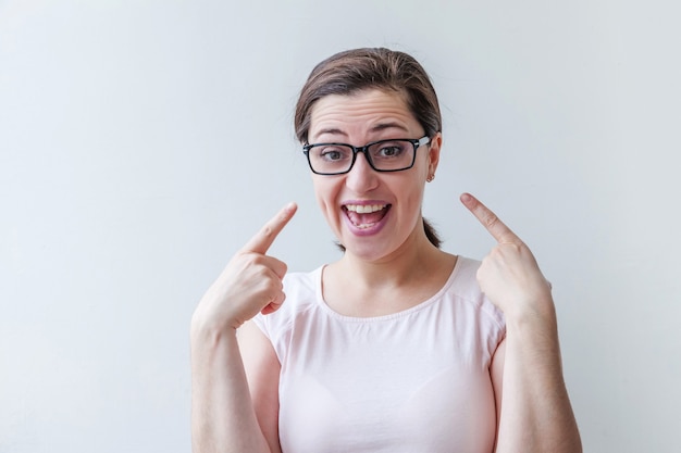
[[[578,453],[580,435],[562,378],[553,303],[507,317],[496,453]]]

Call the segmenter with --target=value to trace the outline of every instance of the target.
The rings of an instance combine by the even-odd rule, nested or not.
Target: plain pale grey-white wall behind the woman
[[[553,281],[587,452],[678,452],[681,8],[669,1],[0,0],[0,452],[188,452],[189,318],[285,202],[272,253],[337,257],[294,103],[386,46],[431,74],[445,249]]]

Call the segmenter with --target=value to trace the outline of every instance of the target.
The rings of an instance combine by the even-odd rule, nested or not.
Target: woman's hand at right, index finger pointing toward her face
[[[530,249],[476,198],[463,193],[461,202],[497,241],[478,269],[478,282],[485,295],[504,312],[507,320],[525,315],[552,315],[550,284]]]

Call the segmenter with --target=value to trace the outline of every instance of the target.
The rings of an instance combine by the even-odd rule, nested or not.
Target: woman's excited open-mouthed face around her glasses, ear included
[[[314,104],[309,142],[362,147],[394,138],[420,139],[423,127],[393,91],[364,90],[331,95]],[[423,240],[421,204],[425,178],[435,173],[441,136],[419,147],[409,169],[375,172],[359,153],[349,173],[312,175],[317,200],[326,222],[348,253],[379,262]]]

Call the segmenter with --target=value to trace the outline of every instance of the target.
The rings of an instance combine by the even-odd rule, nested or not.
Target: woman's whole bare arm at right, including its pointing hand
[[[482,290],[504,311],[507,328],[492,364],[500,395],[495,452],[579,453],[550,285],[530,249],[492,211],[469,194],[461,201],[497,240],[478,272]]]

